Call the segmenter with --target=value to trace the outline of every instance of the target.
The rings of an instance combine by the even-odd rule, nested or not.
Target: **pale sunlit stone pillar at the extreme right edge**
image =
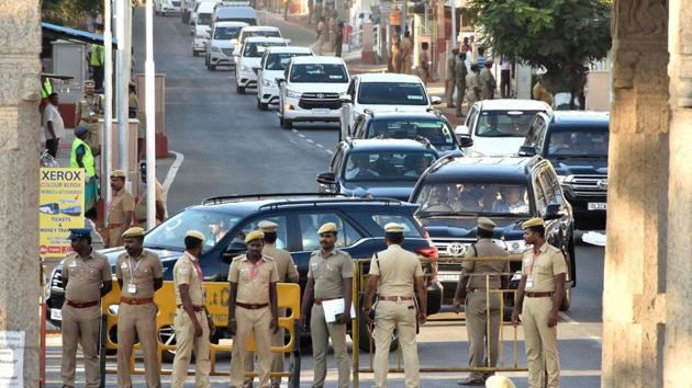
[[[670,162],[666,259],[666,388],[690,387],[692,365],[692,0],[670,2]]]

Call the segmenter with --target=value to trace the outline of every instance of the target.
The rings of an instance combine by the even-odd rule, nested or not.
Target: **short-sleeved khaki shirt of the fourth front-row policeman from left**
[[[279,275],[274,260],[263,254],[258,261],[258,270],[255,278],[252,278],[253,264],[247,255],[233,259],[228,270],[228,282],[237,283],[235,300],[242,304],[261,305],[269,303],[269,284],[278,283]]]

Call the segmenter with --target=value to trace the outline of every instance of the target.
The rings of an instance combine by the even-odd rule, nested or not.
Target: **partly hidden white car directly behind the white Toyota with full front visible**
[[[288,62],[293,57],[313,56],[308,47],[269,47],[261,58],[261,66],[257,73],[257,107],[266,111],[269,104],[279,103],[279,87],[277,78],[283,77]]]

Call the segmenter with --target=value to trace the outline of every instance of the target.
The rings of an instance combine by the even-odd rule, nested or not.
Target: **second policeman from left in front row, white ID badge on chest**
[[[143,249],[144,229],[130,228],[123,233],[125,252],[115,262],[121,288],[118,309],[118,386],[131,388],[130,360],[135,333],[144,352],[148,388],[160,388],[158,339],[154,293],[164,285],[164,269],[158,255]]]

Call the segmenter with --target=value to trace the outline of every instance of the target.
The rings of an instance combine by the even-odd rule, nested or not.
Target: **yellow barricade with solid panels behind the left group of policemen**
[[[176,316],[176,297],[172,282],[164,282],[164,286],[156,292],[154,296],[154,304],[158,307],[158,313],[156,316],[157,333],[164,330],[166,333],[172,335],[174,331],[174,318]],[[228,324],[228,283],[225,282],[205,282],[204,290],[207,293],[207,309],[212,317],[212,321],[216,328],[226,328]],[[272,377],[289,377],[290,387],[300,386],[300,327],[298,319],[300,318],[300,286],[292,283],[279,283],[277,284],[277,303],[279,309],[286,309],[287,316],[279,317],[279,327],[286,329],[286,332],[290,335],[289,342],[283,346],[272,346],[274,353],[290,353],[289,372],[271,373]],[[116,308],[120,304],[120,286],[118,282],[113,282],[113,289],[102,298],[101,313],[104,317],[104,344],[102,349],[108,351],[114,351],[118,349],[116,341],[116,328],[118,328],[118,313]],[[172,339],[172,336],[169,336]],[[159,364],[163,360],[163,354],[166,351],[175,351],[176,345],[172,341],[169,343],[161,343],[160,335],[158,336],[158,361]],[[216,370],[216,354],[217,353],[231,353],[233,350],[232,343],[223,344],[210,344],[211,349],[211,366],[212,376],[228,376],[230,372]],[[135,350],[139,350],[139,344],[135,344]],[[250,338],[247,345],[248,351],[255,351],[255,339]],[[105,353],[105,352],[103,352]],[[104,354],[102,354],[102,357]],[[104,358],[101,361],[104,364]],[[115,369],[107,369],[107,373],[116,373]],[[143,374],[144,369],[135,368],[134,352],[131,360],[131,373]],[[160,370],[163,375],[171,374],[170,369]],[[193,372],[189,372],[193,374]],[[256,373],[246,372],[246,376],[257,376]]]

